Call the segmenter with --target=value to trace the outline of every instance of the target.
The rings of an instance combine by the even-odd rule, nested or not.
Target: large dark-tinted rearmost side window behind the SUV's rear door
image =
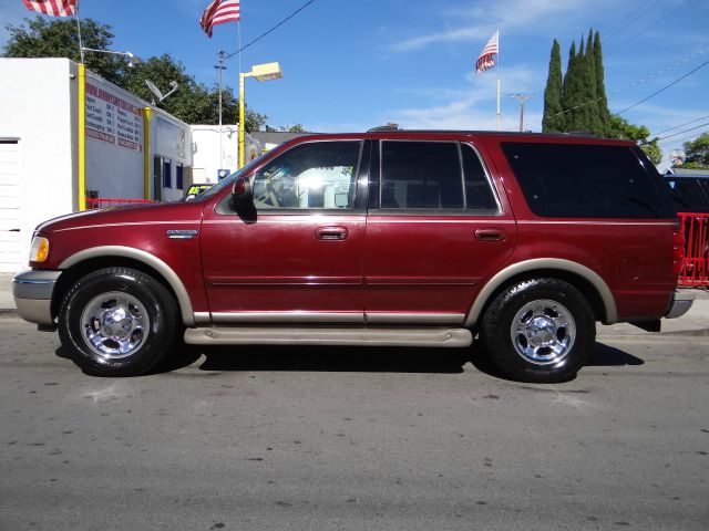
[[[631,148],[502,143],[530,209],[542,217],[671,217],[657,175]]]

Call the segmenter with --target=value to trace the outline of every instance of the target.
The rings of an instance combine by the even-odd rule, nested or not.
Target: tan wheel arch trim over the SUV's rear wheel
[[[465,325],[474,327],[500,293],[520,282],[535,278],[552,278],[568,282],[584,294],[596,320],[605,324],[617,322],[615,299],[598,273],[568,260],[536,259],[511,266],[490,279],[473,301]]]

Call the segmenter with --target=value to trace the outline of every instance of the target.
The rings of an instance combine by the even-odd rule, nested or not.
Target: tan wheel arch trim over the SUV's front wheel
[[[194,313],[187,290],[177,274],[165,262],[138,249],[116,248],[120,250],[114,249],[113,252],[106,249],[105,253],[100,249],[81,251],[61,263],[62,274],[59,277],[52,295],[52,316],[59,314],[64,295],[80,278],[99,269],[121,267],[150,274],[163,284],[174,298],[185,326],[194,326]],[[146,260],[143,254],[148,259]]]

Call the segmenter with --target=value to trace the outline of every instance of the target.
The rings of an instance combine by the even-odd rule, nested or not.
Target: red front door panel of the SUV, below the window
[[[204,274],[214,313],[346,312],[362,315],[364,214],[205,214]],[[343,228],[342,240],[319,239]]]

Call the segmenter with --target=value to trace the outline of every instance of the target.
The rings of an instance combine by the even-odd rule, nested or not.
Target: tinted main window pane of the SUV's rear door
[[[463,174],[453,142],[382,142],[381,208],[463,209]]]

